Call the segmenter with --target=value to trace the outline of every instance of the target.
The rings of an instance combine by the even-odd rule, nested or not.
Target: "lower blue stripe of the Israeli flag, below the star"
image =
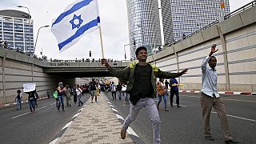
[[[80,35],[82,35],[84,32],[86,32],[86,30],[89,30],[90,28],[92,28],[94,26],[98,26],[98,20],[99,20],[99,17],[97,17],[97,19],[94,19],[94,20],[86,23],[86,25],[79,28],[74,35],[72,35],[70,38],[67,38],[64,42],[59,43],[58,49],[62,50],[62,48],[64,46],[66,46],[68,43],[72,42],[75,38],[78,38]]]

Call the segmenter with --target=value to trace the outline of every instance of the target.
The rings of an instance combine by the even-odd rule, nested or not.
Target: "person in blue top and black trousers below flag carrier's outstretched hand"
[[[177,107],[180,108],[181,106],[179,105],[179,95],[178,95],[178,81],[175,78],[170,78],[170,106],[174,107],[173,102],[174,102],[174,94],[176,95],[176,104]]]

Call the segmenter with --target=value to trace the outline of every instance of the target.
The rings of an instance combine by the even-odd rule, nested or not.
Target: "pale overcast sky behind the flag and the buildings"
[[[52,19],[62,14],[66,6],[75,0],[0,0],[0,10],[22,10],[26,6],[30,9],[30,15],[34,20],[34,42],[40,26],[51,25]],[[216,1],[217,2],[217,1]],[[252,0],[230,0],[230,11],[244,6]],[[105,58],[124,59],[124,45],[129,43],[128,19],[126,0],[98,0],[99,13],[102,26],[102,41]],[[38,35],[38,42],[35,54],[40,51],[48,58],[58,59],[82,59],[89,58],[89,51],[92,51],[92,58],[102,58],[100,38],[98,30],[86,34],[80,41],[69,49],[58,52],[57,40],[51,33],[50,27],[42,28]],[[127,59],[130,59],[129,46],[126,47]]]

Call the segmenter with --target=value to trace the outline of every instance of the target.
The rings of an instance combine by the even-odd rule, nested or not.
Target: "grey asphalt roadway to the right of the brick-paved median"
[[[112,99],[110,94],[107,97]],[[215,113],[214,109],[210,117],[210,126],[215,140],[209,142],[204,138],[199,97],[200,94],[180,93],[182,108],[177,108],[176,106],[170,108],[170,97],[168,96],[167,103],[170,111],[164,111],[162,101],[159,110],[162,143],[224,143],[218,114]],[[241,143],[256,143],[256,97],[227,94],[222,94],[221,97],[226,106],[230,131],[233,137]],[[156,103],[157,101],[155,99]],[[129,114],[129,105],[123,99],[122,101],[111,100],[110,102],[118,110],[118,113],[122,115],[122,118],[126,118],[127,114]],[[136,143],[152,143],[152,126],[146,109],[140,111],[138,118],[130,126],[139,137],[132,137],[134,142],[138,140]]]

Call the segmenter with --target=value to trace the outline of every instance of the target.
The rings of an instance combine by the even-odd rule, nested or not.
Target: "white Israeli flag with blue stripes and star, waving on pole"
[[[96,30],[99,22],[97,0],[78,0],[67,6],[51,26],[60,52],[73,46],[83,35]]]

